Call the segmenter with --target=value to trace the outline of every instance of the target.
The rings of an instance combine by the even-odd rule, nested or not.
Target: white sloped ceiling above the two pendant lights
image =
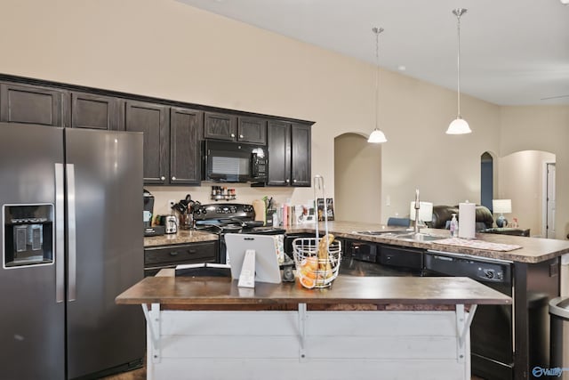
[[[569,5],[560,0],[177,0],[500,105],[569,104]],[[565,0],[564,0],[565,1]],[[405,67],[401,70],[400,67]],[[553,98],[543,100],[543,98]]]

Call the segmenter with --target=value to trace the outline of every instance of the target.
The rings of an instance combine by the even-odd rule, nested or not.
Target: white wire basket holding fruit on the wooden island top
[[[323,238],[293,240],[296,275],[303,287],[330,287],[338,277],[341,261],[341,242],[326,234]]]

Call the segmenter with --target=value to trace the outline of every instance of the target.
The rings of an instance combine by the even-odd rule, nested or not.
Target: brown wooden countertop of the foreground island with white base
[[[147,277],[116,297],[116,303],[168,305],[307,304],[506,304],[508,295],[461,277],[339,276],[332,287],[306,289],[298,281],[237,287],[219,277]],[[236,308],[239,309],[239,308]]]

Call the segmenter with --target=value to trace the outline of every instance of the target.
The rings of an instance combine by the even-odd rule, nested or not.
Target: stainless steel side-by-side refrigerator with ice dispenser
[[[141,133],[0,123],[0,378],[141,362],[140,307],[115,297],[143,278],[142,143]]]

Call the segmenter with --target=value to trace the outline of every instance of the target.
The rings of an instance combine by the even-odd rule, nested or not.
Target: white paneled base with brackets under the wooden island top
[[[469,313],[461,304],[455,311],[304,307],[159,311],[155,304],[148,379],[470,378]]]

